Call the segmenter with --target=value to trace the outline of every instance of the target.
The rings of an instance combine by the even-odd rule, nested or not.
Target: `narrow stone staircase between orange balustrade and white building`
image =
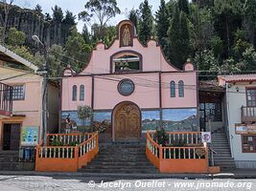
[[[213,150],[217,152],[217,154],[214,154],[215,165],[220,166],[221,169],[236,168],[225,133],[214,133],[212,135],[212,144]]]

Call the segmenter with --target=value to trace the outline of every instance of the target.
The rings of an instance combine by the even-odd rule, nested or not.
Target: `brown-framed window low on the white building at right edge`
[[[243,153],[256,153],[256,136],[242,135]]]

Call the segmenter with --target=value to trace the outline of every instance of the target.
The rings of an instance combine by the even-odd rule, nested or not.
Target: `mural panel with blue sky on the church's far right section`
[[[163,127],[166,131],[198,131],[198,110],[164,109]]]

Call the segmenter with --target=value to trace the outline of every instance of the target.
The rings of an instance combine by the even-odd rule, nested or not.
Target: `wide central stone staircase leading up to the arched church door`
[[[105,143],[99,145],[99,154],[82,173],[155,174],[155,168],[146,157],[145,144]]]

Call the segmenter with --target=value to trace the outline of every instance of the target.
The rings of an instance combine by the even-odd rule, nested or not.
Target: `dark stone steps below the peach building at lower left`
[[[19,161],[18,151],[0,151],[0,171],[35,170],[35,162]]]

